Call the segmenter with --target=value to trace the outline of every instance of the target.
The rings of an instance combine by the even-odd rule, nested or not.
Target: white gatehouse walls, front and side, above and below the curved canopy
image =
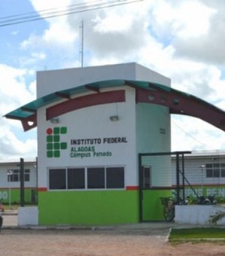
[[[152,81],[170,86],[169,78],[136,63],[127,63],[37,72],[37,96],[45,96],[58,90],[90,84],[95,81],[113,79]],[[68,112],[58,117],[59,123],[56,125],[49,120],[46,121],[45,108],[38,109],[39,187],[48,186],[47,168],[53,166],[124,166],[125,187],[138,186],[138,153],[169,151],[170,118],[168,108],[145,104],[148,107],[145,107],[142,111],[142,104],[138,104],[136,108],[136,92],[133,88],[126,86],[104,88],[101,89],[101,92],[109,90],[126,90],[125,102],[96,105]],[[119,120],[112,122],[110,120],[112,115],[118,115]],[[48,128],[54,129],[54,126],[67,127],[67,134],[62,135],[61,139],[67,143],[68,148],[61,151],[60,157],[49,158],[46,156],[46,130]],[[166,134],[161,134],[160,129],[165,130]],[[124,138],[126,142],[110,143],[112,138]],[[79,139],[100,139],[100,143],[95,143],[95,145],[71,144],[71,141],[74,140],[75,142]],[[77,151],[79,146],[83,150],[86,150],[85,148],[89,146],[93,146],[94,149],[91,152],[87,151],[86,157],[71,157],[72,154],[74,156],[79,155],[80,152]],[[96,157],[97,153],[102,152],[110,152],[110,156]],[[167,164],[167,161],[165,164]],[[170,172],[168,172],[168,175],[170,175]],[[163,185],[170,184],[167,178],[162,183]]]

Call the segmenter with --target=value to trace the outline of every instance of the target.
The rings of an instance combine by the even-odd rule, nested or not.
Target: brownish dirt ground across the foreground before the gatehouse
[[[14,222],[12,222],[14,221]],[[225,256],[225,245],[214,243],[170,245],[169,227],[107,228],[93,230],[16,229],[15,217],[5,218],[0,233],[0,255],[216,255]],[[141,228],[139,228],[141,227]]]

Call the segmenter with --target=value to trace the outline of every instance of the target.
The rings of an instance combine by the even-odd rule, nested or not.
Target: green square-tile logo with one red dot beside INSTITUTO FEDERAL
[[[60,152],[68,148],[67,142],[61,142],[61,136],[68,132],[67,127],[47,128],[46,157],[60,157]]]

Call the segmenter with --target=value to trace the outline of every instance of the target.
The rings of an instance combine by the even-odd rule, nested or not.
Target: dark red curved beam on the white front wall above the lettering
[[[114,102],[125,102],[124,90],[113,90],[105,93],[89,94],[87,96],[77,97],[66,102],[53,105],[52,107],[46,108],[46,120],[80,108]]]

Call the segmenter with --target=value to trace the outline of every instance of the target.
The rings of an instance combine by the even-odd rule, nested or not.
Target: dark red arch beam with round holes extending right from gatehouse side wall
[[[219,108],[176,90],[160,90],[153,84],[149,84],[149,87],[153,90],[136,88],[136,102],[164,105],[169,108],[171,114],[185,114],[197,117],[225,131],[225,113]]]

